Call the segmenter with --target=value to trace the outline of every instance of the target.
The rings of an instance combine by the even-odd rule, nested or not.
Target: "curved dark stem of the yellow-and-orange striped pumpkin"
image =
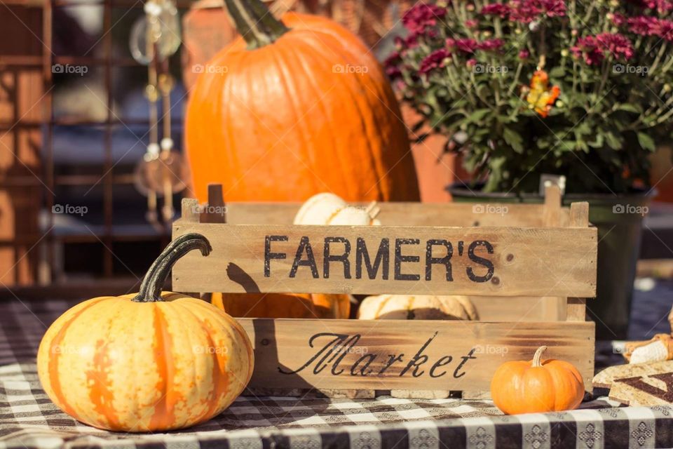
[[[209,255],[212,247],[210,242],[201,234],[184,234],[179,236],[156,258],[147,274],[140,283],[140,292],[132,299],[134,302],[158,302],[161,299],[161,289],[168,279],[170,269],[180,257],[191,250],[200,250],[202,255]]]

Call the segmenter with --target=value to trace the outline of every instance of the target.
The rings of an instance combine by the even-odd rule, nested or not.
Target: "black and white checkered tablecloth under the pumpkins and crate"
[[[242,396],[187,431],[123,434],[76,422],[49,400],[34,358],[72,304],[0,304],[0,448],[673,448],[673,405],[617,408],[597,399],[566,413],[501,415],[489,401]]]

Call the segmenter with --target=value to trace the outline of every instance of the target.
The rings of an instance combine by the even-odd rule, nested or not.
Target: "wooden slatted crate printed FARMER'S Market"
[[[550,187],[539,205],[379,203],[384,226],[298,226],[299,203],[229,203],[225,224],[222,189],[211,193],[203,213],[183,200],[173,226],[174,238],[198,232],[212,244],[208,257],[177,262],[175,291],[468,295],[482,320],[240,319],[254,342],[250,387],[467,395],[545,344],[591,391],[583,298],[596,292],[597,229],[587,203],[562,208]]]

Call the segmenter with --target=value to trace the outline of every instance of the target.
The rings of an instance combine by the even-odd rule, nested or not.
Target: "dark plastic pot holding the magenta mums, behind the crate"
[[[543,202],[538,194],[482,193],[481,187],[468,189],[457,182],[447,190],[454,201],[461,202]],[[654,195],[643,191],[627,195],[569,194],[563,198],[564,206],[588,201],[589,220],[598,228],[597,297],[587,301],[587,312],[596,322],[597,340],[627,337],[643,216]]]

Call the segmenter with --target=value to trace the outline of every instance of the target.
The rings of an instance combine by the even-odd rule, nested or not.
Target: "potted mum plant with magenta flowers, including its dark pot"
[[[393,85],[452,136],[473,182],[454,199],[590,201],[599,227],[597,337],[626,336],[648,156],[673,135],[673,1],[453,0],[407,11]],[[422,138],[423,136],[421,136]]]

